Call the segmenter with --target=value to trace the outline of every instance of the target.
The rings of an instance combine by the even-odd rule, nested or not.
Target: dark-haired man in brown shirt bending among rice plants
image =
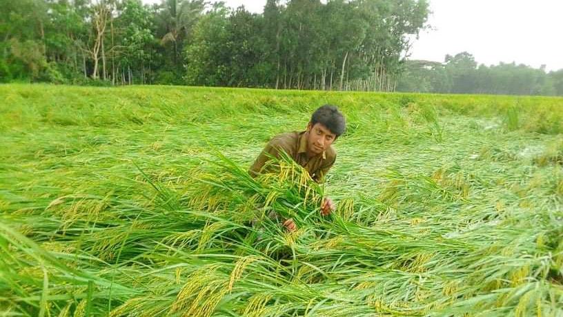
[[[306,131],[283,133],[273,137],[254,164],[250,166],[250,175],[258,175],[270,157],[280,157],[285,151],[297,164],[304,167],[315,182],[323,182],[324,176],[336,160],[336,151],[332,144],[346,130],[346,120],[336,106],[326,104],[318,108],[311,116]],[[324,198],[321,214],[328,215],[335,205],[330,198]],[[287,219],[284,227],[295,231],[293,220]]]

